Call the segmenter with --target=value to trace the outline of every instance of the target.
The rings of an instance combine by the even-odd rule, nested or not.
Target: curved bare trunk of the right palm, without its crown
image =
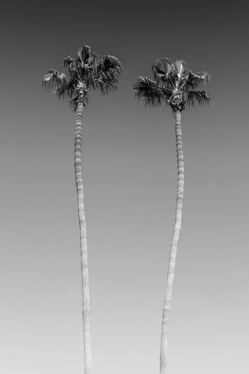
[[[170,312],[171,297],[172,297],[172,286],[173,286],[174,273],[175,273],[176,252],[177,252],[177,246],[178,246],[180,230],[181,230],[181,222],[182,222],[184,165],[183,165],[183,153],[182,153],[181,112],[179,110],[175,112],[175,134],[176,134],[177,170],[178,170],[176,217],[175,217],[175,228],[174,228],[174,233],[173,233],[173,239],[171,242],[167,284],[166,284],[166,291],[165,291],[164,305],[163,305],[160,374],[167,373],[168,322],[169,322],[169,312]]]

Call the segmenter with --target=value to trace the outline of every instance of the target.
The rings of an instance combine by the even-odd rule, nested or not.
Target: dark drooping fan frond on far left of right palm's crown
[[[139,77],[133,85],[133,89],[135,90],[137,100],[144,101],[145,106],[156,107],[164,101],[161,87],[147,77]]]

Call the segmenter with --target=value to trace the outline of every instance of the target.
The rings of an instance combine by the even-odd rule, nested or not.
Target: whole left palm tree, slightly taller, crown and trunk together
[[[69,56],[64,59],[64,67],[68,68],[68,74],[49,69],[42,83],[47,89],[56,88],[56,99],[68,99],[69,106],[76,112],[74,166],[80,223],[85,374],[92,374],[87,233],[81,169],[82,116],[92,90],[99,89],[103,94],[108,94],[118,89],[123,67],[117,57],[107,54],[98,58],[85,44],[76,58],[72,58],[69,52]]]

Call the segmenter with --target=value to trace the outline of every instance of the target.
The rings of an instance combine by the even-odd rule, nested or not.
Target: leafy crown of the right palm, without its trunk
[[[139,77],[133,85],[135,96],[145,106],[170,105],[173,112],[184,110],[185,106],[212,105],[206,91],[197,91],[209,83],[210,76],[204,71],[192,73],[182,60],[171,62],[162,57],[152,65],[154,80]]]

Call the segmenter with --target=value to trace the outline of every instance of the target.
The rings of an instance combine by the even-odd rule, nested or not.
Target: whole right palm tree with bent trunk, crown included
[[[179,60],[173,63],[168,58],[158,58],[152,65],[152,71],[154,73],[154,80],[148,79],[147,77],[138,78],[133,86],[135,96],[139,101],[144,101],[145,106],[156,107],[165,104],[172,108],[175,118],[178,169],[175,227],[170,249],[161,333],[160,374],[166,374],[168,321],[175,273],[176,252],[182,221],[184,165],[181,112],[185,109],[185,106],[211,105],[211,98],[207,92],[196,90],[198,87],[209,83],[210,76],[205,72],[192,73],[192,71],[186,69],[184,61]]]

